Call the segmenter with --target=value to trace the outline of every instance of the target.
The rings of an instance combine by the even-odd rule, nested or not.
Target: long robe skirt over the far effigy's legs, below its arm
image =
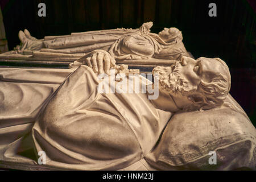
[[[65,36],[46,36],[43,40],[46,48],[40,49],[42,53],[35,56],[43,56],[47,53],[48,55],[49,53],[62,53],[63,56],[65,54],[81,56],[95,49],[109,51],[109,48],[121,36],[137,31],[137,29],[114,29],[72,33]]]

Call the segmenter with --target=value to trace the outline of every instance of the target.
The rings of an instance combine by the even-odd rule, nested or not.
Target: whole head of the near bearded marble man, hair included
[[[156,67],[160,90],[172,96],[183,96],[190,104],[184,110],[212,109],[221,106],[230,90],[229,68],[219,58],[183,56],[171,67]]]

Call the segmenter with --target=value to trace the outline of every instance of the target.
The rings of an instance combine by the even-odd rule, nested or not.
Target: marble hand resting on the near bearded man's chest
[[[90,52],[90,54],[86,56],[86,60],[83,60],[82,62],[87,63],[94,72],[106,73],[108,75],[110,75],[110,68],[115,67],[114,58],[104,50]]]

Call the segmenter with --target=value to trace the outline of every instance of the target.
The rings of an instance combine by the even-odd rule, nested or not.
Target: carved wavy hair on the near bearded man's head
[[[221,106],[229,93],[231,86],[231,76],[229,73],[228,65],[219,58],[214,58],[223,65],[225,75],[216,73],[216,77],[211,82],[204,82],[201,80],[195,94],[189,94],[187,97],[193,102],[192,105],[184,107],[183,110],[207,110],[214,107]]]

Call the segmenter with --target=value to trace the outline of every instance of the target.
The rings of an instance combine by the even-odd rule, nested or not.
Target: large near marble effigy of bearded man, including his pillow
[[[118,73],[134,75],[121,80]],[[115,65],[102,50],[70,69],[0,68],[0,167],[255,169],[256,130],[229,94],[224,61],[183,56],[152,74],[158,84]],[[158,97],[120,92],[126,77],[158,88]],[[105,78],[114,81],[115,92],[98,90]],[[216,164],[209,162],[212,151]]]

